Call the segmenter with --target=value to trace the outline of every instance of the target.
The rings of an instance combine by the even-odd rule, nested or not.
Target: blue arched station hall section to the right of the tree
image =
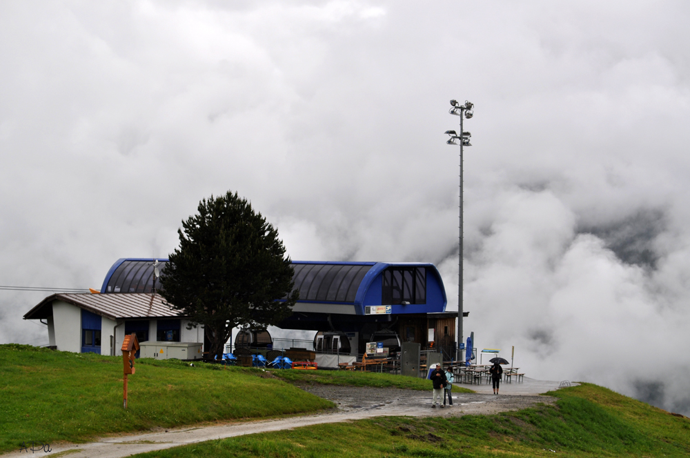
[[[387,332],[454,355],[457,314],[445,313],[446,291],[433,264],[293,261],[293,267],[299,301],[279,328],[344,333],[352,355]]]

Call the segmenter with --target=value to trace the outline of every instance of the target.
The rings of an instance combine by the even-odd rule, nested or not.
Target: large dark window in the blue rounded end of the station
[[[397,267],[384,270],[381,303],[426,303],[426,268]]]

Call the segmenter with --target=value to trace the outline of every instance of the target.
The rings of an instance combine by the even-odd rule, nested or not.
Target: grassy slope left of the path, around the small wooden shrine
[[[42,441],[85,441],[113,432],[313,412],[326,401],[266,372],[137,359],[128,408],[122,357],[0,345],[0,452]]]

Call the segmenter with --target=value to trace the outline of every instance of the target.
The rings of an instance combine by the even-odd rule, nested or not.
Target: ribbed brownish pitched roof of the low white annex
[[[144,293],[103,294],[55,294],[46,297],[29,310],[24,319],[44,319],[52,315],[52,303],[64,301],[109,319],[134,318],[181,318],[160,295]]]

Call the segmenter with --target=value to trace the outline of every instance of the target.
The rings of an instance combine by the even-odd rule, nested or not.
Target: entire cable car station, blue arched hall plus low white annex
[[[161,296],[152,294],[160,288],[153,261],[119,259],[103,280],[100,294],[52,295],[24,319],[46,319],[50,346],[72,352],[112,355],[131,332],[140,342],[203,342],[201,326],[191,326],[188,317],[177,315]],[[373,337],[393,336],[401,342],[417,342],[423,350],[454,354],[457,314],[445,312],[446,292],[433,264],[293,261],[293,267],[299,300],[293,315],[277,326],[318,331],[326,339],[317,350],[347,349],[357,355],[364,353]],[[348,339],[346,348],[333,346],[336,336],[341,344]]]

